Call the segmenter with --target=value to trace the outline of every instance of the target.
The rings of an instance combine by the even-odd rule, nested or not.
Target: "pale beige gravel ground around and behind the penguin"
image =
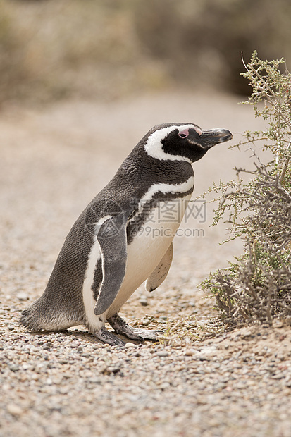
[[[80,211],[166,121],[228,128],[235,141],[259,127],[235,97],[187,92],[2,109],[0,436],[291,436],[290,328],[215,334],[213,300],[197,290],[242,250],[218,245],[226,226],[209,228],[211,205],[197,203],[183,223],[165,283],[151,294],[141,287],[122,309],[131,324],[162,328],[161,343],[118,350],[82,326],[41,334],[18,325]],[[194,166],[195,194],[235,177],[249,155],[227,144],[211,150]]]

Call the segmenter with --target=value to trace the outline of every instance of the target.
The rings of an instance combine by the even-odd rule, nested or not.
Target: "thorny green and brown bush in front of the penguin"
[[[255,170],[236,168],[237,180],[214,185],[218,207],[213,224],[228,215],[230,239],[244,240],[244,253],[227,269],[211,273],[202,283],[216,296],[216,308],[228,324],[274,318],[291,323],[291,74],[285,61],[262,61],[256,52],[242,75],[252,86],[245,102],[256,117],[266,121],[266,131],[245,132],[254,154]],[[262,143],[273,160],[263,164],[255,152]],[[264,155],[264,152],[263,152]],[[252,179],[244,182],[243,173]],[[205,193],[206,194],[206,193]]]

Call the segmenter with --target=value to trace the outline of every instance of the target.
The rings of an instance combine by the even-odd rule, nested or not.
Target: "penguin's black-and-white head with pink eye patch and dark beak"
[[[157,159],[192,163],[211,147],[232,138],[226,129],[202,130],[194,123],[168,123],[149,131],[144,150]]]

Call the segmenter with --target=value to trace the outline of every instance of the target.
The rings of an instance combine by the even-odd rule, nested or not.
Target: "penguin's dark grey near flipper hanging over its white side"
[[[126,224],[128,217],[124,214],[109,216],[97,233],[100,246],[103,279],[94,308],[97,316],[106,312],[123,283],[127,263]]]

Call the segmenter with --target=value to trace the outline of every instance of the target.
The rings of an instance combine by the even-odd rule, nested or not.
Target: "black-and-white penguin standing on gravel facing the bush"
[[[149,130],[75,222],[47,288],[20,323],[33,331],[82,324],[104,343],[123,345],[107,331],[108,321],[128,338],[155,340],[155,331],[131,328],[118,312],[144,281],[152,291],[166,278],[172,240],[194,189],[191,164],[231,138],[229,130],[193,123]]]

